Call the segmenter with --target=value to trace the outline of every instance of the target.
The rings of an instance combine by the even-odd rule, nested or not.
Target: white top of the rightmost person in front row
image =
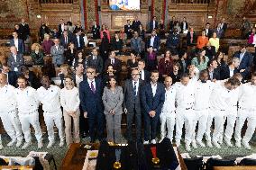
[[[256,85],[246,83],[241,85],[239,92],[239,107],[256,110]]]

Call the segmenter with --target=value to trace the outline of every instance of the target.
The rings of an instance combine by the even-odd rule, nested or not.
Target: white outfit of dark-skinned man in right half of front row
[[[194,130],[196,130],[198,121],[197,141],[202,141],[203,136],[206,133],[207,125],[212,125],[213,119],[211,115],[209,115],[209,100],[214,86],[214,83],[211,81],[202,83],[201,80],[197,81],[195,85],[195,113],[197,118],[194,124]],[[196,132],[194,132],[193,136],[193,139],[195,139]]]

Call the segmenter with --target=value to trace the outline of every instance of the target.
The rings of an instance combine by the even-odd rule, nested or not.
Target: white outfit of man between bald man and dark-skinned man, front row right
[[[180,82],[177,82],[174,85],[176,89],[176,142],[180,142],[182,135],[183,124],[185,123],[185,142],[187,145],[190,145],[193,138],[193,125],[196,119],[196,114],[194,111],[194,88],[195,82],[189,80],[187,86],[182,85]]]

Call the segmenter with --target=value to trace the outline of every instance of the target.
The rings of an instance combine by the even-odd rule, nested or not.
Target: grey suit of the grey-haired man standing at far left
[[[24,58],[23,58],[23,54],[21,54],[21,53],[17,53],[16,59],[14,58],[13,54],[11,54],[11,56],[8,58],[7,65],[8,65],[8,67],[11,67],[11,71],[19,71],[20,72],[23,64],[24,64]],[[14,70],[15,67],[17,68],[17,70]]]

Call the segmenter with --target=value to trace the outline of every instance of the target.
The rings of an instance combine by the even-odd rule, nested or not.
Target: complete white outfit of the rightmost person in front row
[[[244,142],[249,142],[256,128],[256,85],[251,83],[240,87],[238,119],[236,121],[234,139],[241,141],[241,130],[244,121],[247,120],[247,130],[243,136]]]

